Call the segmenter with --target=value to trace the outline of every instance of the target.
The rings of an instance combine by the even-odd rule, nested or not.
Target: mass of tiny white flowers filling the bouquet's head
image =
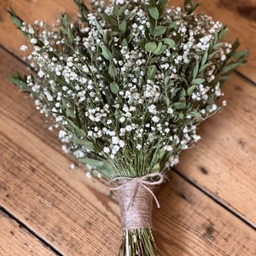
[[[150,64],[152,55],[141,47],[145,29],[150,27],[145,9],[148,1],[112,3],[127,4],[124,17],[132,14],[125,20],[128,44],[122,44],[124,36],[113,32],[97,15],[113,15],[113,5],[107,7],[104,1],[93,4],[95,13],[87,15],[88,26],[68,25],[66,29],[73,33],[72,47],[58,30],[61,23],[51,28],[44,22],[24,24],[22,31],[29,34],[32,44],[27,59],[38,72],[38,79],[29,76],[26,84],[38,97],[37,107],[54,116],[61,141],[71,143],[65,149],[73,150],[78,158],[96,152],[104,159],[121,159],[124,166],[133,168],[136,155],[154,158],[153,152],[164,152],[169,159],[166,166],[173,166],[180,151],[200,139],[197,125],[218,110],[215,102],[223,92],[216,80],[217,67],[226,60],[231,45],[221,44],[211,61],[204,63],[207,66],[201,80],[192,84],[189,94],[190,66],[200,63],[222,24],[207,15],[167,9],[160,22],[170,23],[166,37],[175,44]],[[153,78],[146,68],[150,65],[157,67]],[[78,140],[94,143],[94,150]],[[152,167],[149,164],[147,168]]]

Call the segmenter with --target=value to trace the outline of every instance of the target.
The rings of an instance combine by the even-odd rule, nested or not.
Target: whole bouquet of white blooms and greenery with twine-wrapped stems
[[[167,8],[167,0],[74,0],[54,26],[27,25],[34,73],[10,80],[33,96],[59,132],[63,149],[117,192],[121,255],[157,255],[152,235],[154,189],[200,136],[201,122],[224,106],[222,86],[247,50],[224,38],[228,29],[195,13],[197,1]]]

